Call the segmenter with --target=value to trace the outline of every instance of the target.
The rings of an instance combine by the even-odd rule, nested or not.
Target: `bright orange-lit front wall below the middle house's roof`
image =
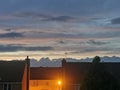
[[[57,80],[30,80],[30,90],[62,90]]]

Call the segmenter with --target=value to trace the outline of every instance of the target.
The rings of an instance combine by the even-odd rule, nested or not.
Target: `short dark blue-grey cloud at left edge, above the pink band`
[[[17,38],[17,37],[24,37],[24,35],[18,32],[9,32],[9,33],[0,34],[0,38]]]

